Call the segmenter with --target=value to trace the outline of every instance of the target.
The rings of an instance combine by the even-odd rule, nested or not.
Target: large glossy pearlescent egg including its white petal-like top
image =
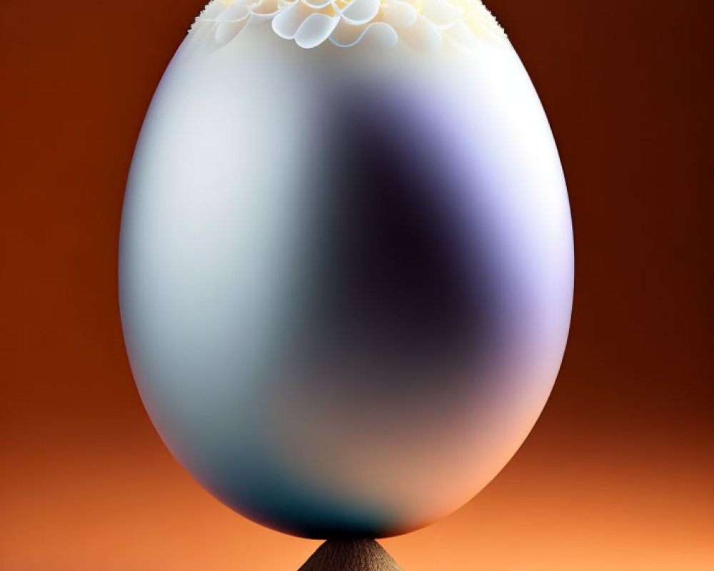
[[[241,515],[386,537],[468,502],[563,357],[568,198],[479,0],[214,0],[124,198],[121,321],[176,459]]]

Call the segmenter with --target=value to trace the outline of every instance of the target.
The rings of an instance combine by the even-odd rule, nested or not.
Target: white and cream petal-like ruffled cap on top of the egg
[[[212,35],[222,46],[261,24],[306,49],[326,41],[389,49],[401,40],[418,51],[508,44],[481,0],[211,0],[191,34]]]

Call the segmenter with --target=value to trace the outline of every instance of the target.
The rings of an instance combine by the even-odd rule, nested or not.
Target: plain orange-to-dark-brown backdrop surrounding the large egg
[[[126,173],[201,4],[2,1],[1,570],[294,571],[318,545],[201,490],[152,428],[124,353]],[[489,5],[560,147],[573,328],[503,473],[383,543],[407,571],[712,570],[710,2]]]

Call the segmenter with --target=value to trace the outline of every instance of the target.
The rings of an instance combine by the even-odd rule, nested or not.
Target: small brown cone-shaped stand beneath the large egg
[[[403,571],[375,540],[328,540],[298,571]]]

